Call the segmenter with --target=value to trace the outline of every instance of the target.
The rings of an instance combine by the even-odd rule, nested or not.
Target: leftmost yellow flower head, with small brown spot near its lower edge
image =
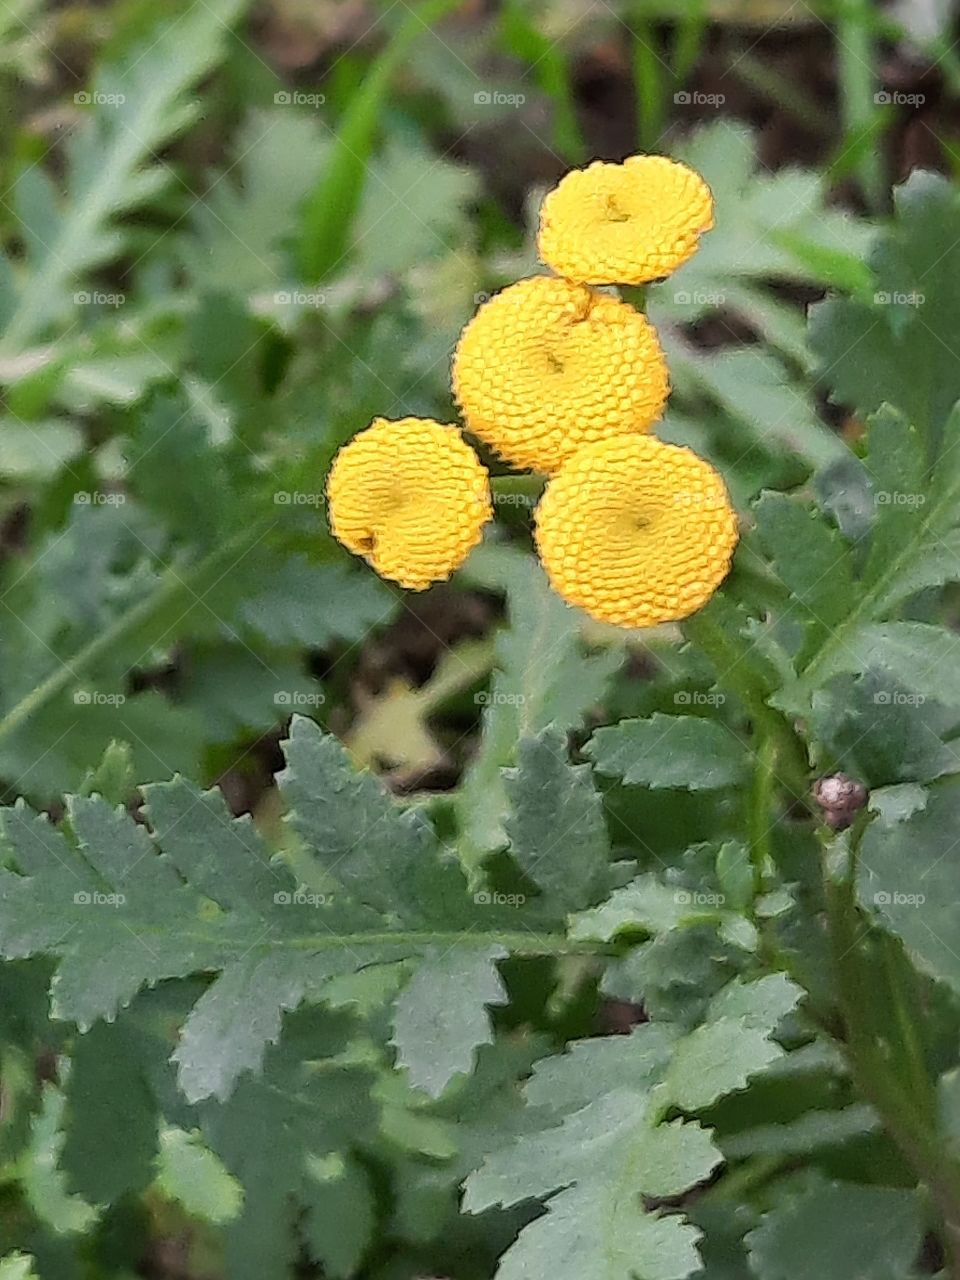
[[[334,536],[412,591],[449,577],[493,515],[490,483],[456,426],[376,417],[326,481]]]

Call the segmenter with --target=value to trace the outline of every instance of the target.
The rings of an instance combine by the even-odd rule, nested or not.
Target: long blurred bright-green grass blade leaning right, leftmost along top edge
[[[456,9],[457,3],[426,0],[411,9],[344,111],[330,161],[303,210],[300,264],[305,280],[325,279],[347,252],[393,73],[417,36]]]

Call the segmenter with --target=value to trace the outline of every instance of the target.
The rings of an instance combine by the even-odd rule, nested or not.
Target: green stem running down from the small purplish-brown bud
[[[845,1025],[844,1050],[861,1093],[877,1108],[916,1176],[929,1188],[943,1222],[948,1274],[960,1280],[960,1169],[946,1155],[924,1101],[931,1091],[929,1076],[924,1068],[920,1097],[913,1087],[905,1087],[870,1021],[878,975],[876,966],[864,964],[863,920],[856,906],[856,860],[863,829],[860,824],[841,837],[845,865],[837,865],[837,845],[829,846],[824,855],[827,919]],[[904,1012],[913,1019],[910,1011]],[[910,1041],[919,1043],[915,1029]]]

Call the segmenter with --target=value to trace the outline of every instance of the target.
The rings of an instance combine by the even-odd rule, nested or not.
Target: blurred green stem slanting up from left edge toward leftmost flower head
[[[215,575],[218,570],[227,572],[260,541],[269,527],[266,521],[255,522],[228,539],[221,547],[210,552],[209,556],[198,561],[192,568],[184,568],[182,572],[168,568],[161,575],[160,582],[151,595],[120,614],[95,640],[78,649],[77,653],[63,662],[46,680],[42,680],[32,689],[26,698],[22,698],[19,703],[10,708],[6,716],[0,719],[0,741],[10,737],[12,733],[22,728],[28,719],[69,689],[79,676],[95,669],[102,658],[129,640],[137,631],[150,626],[152,620],[170,608],[180,595],[192,600],[198,594],[196,586],[202,584],[204,579]]]

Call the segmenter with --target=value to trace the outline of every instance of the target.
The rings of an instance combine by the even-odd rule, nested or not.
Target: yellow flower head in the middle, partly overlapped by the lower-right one
[[[535,275],[466,326],[453,392],[470,430],[500,457],[549,472],[590,440],[646,431],[669,383],[645,316],[584,284]]]

